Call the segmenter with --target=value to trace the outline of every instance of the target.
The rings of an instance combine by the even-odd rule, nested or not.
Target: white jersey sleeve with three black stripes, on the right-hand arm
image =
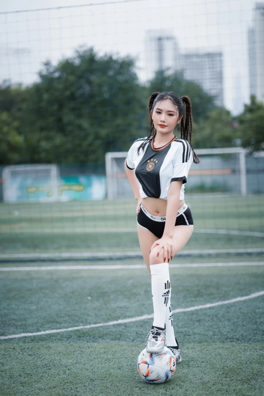
[[[192,148],[187,140],[179,140],[177,144],[177,151],[173,161],[173,174],[171,182],[183,181],[187,182],[188,173],[193,162]]]

